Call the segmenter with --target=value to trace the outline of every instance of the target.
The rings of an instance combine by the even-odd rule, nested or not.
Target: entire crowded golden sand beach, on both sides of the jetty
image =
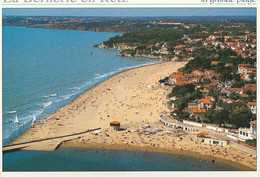
[[[167,135],[152,135],[129,130],[144,124],[164,131],[170,130],[158,123],[160,114],[169,109],[162,104],[169,90],[158,85],[158,80],[169,76],[183,62],[164,62],[131,69],[111,77],[81,94],[48,117],[29,128],[12,143],[51,138],[101,127],[109,128],[111,121],[119,121],[124,131],[87,133],[66,142],[66,147],[115,148],[132,150],[165,151],[195,155],[199,158],[234,163],[241,169],[255,170],[256,159],[229,147],[211,146],[196,142],[196,134],[175,130]],[[180,138],[181,137],[181,138]],[[176,156],[176,158],[178,158]]]

